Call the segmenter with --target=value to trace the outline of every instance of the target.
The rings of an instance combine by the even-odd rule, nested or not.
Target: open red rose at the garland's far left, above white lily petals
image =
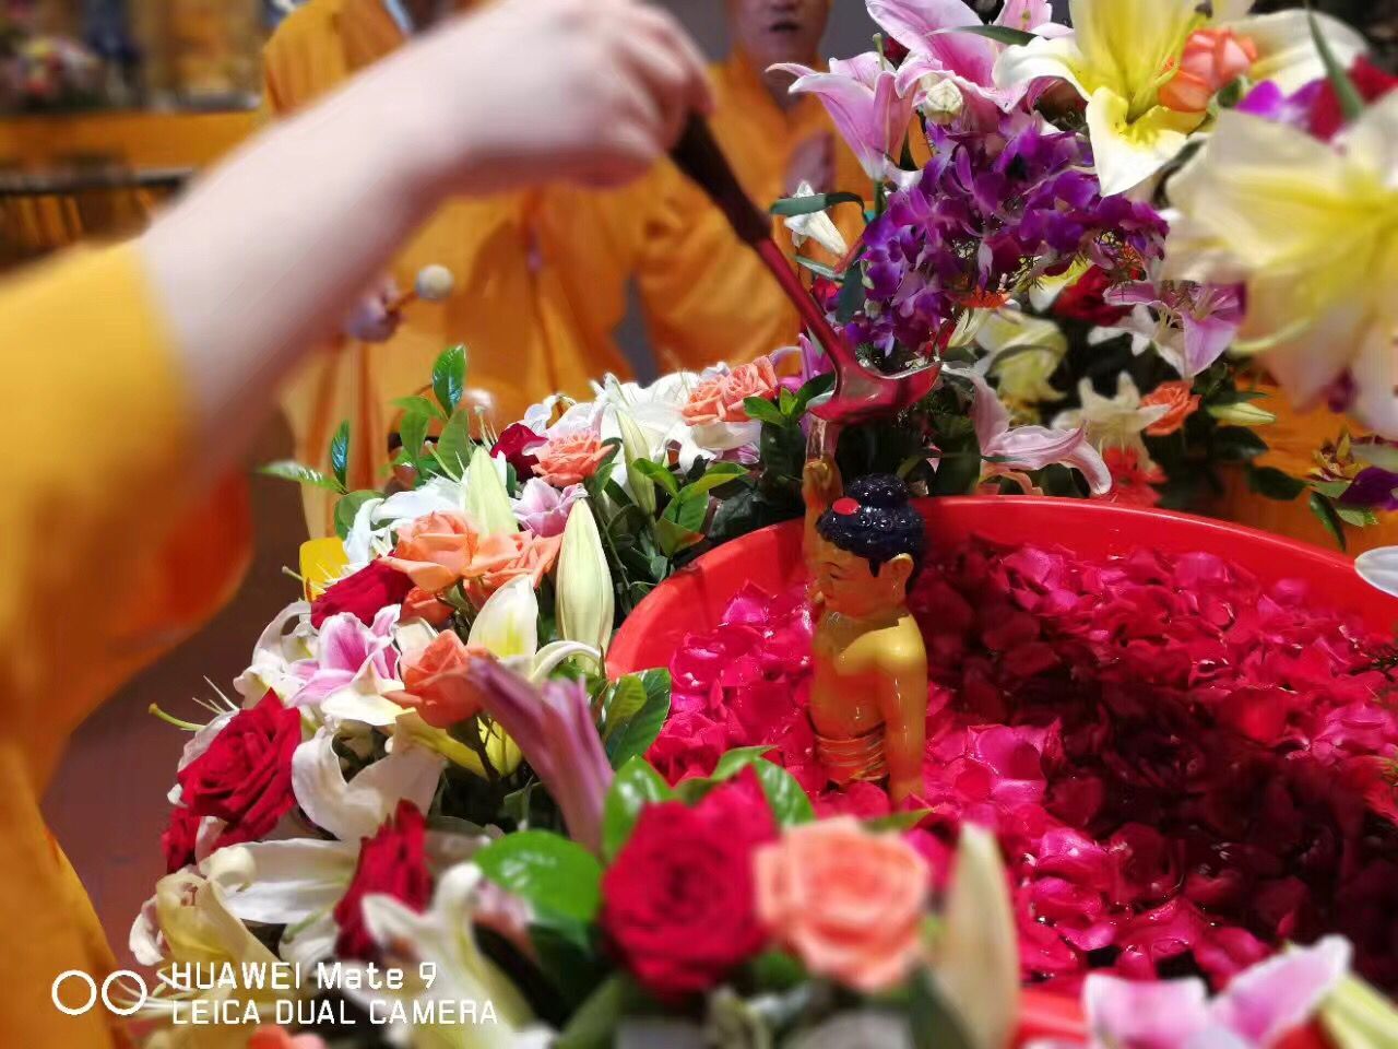
[[[257,841],[296,803],[291,755],[299,744],[301,711],[267,692],[180,771],[180,800],[192,815],[214,815],[226,824],[219,846]]]

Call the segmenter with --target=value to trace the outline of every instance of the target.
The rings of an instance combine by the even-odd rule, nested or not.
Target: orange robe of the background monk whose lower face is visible
[[[791,158],[816,136],[830,136],[835,144],[835,185],[823,189],[868,197],[868,178],[819,101],[804,95],[790,109],[779,108],[741,53],[714,66],[712,78],[717,109],[710,126],[759,207],[787,196]],[[860,207],[842,204],[832,217],[853,245],[864,228]],[[626,313],[628,281],[635,278],[661,372],[699,371],[717,361],[741,364],[793,345],[800,333],[795,308],[758,257],[668,161],[624,190],[551,193],[544,229],[545,250],[558,245],[586,253],[582,264],[558,257],[545,266],[576,304],[586,338],[612,344],[612,331]],[[773,236],[794,259],[791,234],[780,220],[773,221]],[[836,262],[814,242],[801,253]],[[603,347],[593,351],[589,344],[589,351],[601,355]]]

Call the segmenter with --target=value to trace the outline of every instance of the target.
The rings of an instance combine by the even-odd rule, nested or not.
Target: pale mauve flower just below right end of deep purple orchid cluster
[[[1166,327],[1155,333],[1155,344],[1184,379],[1219,359],[1243,326],[1243,288],[1237,284],[1137,281],[1109,288],[1103,299],[1113,306],[1146,306],[1163,313]],[[1183,331],[1183,345],[1169,337],[1172,330]]]

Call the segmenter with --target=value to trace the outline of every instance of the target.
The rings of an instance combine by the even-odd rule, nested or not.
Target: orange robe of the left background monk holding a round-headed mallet
[[[267,45],[266,105],[274,116],[295,112],[401,45],[380,0],[312,0]],[[440,264],[456,292],[443,304],[410,304],[390,341],[338,338],[298,373],[282,401],[298,457],[324,466],[331,435],[350,420],[350,483],[380,487],[398,415],[393,401],[419,390],[438,354],[457,343],[470,350],[468,385],[488,394],[500,425],[547,393],[586,394],[590,376],[625,373],[610,340],[579,337],[568,299],[542,271],[551,255],[537,221],[544,196],[457,199],[417,232],[393,263],[398,287],[412,288],[422,267]],[[329,523],[324,497],[312,490],[308,520],[312,531]]]

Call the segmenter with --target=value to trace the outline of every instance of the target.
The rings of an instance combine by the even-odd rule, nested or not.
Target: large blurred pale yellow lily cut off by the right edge
[[[1398,95],[1334,144],[1226,112],[1170,183],[1180,211],[1166,276],[1247,285],[1234,350],[1260,352],[1304,410],[1336,380],[1350,410],[1398,436]]]

